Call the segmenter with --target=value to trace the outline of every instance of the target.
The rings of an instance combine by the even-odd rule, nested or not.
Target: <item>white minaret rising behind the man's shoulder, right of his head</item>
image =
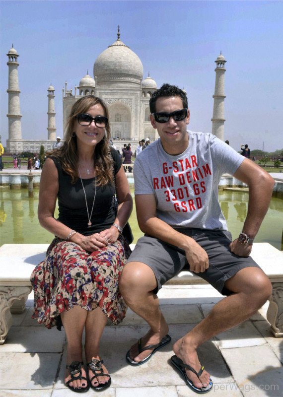
[[[215,63],[215,89],[213,103],[213,115],[212,115],[212,133],[217,136],[217,138],[224,140],[224,73],[225,69],[225,58],[220,52],[219,57],[217,57]]]

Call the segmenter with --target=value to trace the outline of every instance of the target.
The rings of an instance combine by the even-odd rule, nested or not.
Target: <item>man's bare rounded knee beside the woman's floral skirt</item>
[[[141,291],[151,291],[157,286],[155,275],[151,268],[141,262],[129,262],[124,266],[119,281],[123,296]]]

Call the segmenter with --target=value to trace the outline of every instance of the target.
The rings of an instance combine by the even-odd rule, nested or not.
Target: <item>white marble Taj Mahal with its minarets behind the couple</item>
[[[8,139],[7,152],[39,152],[43,145],[51,150],[56,141],[55,88],[48,87],[48,126],[46,140],[25,140],[21,134],[20,90],[18,78],[17,51],[12,48],[8,57]],[[215,89],[212,114],[212,133],[224,138],[224,73],[225,59],[220,54],[215,63]],[[149,120],[149,99],[157,89],[152,77],[143,78],[140,58],[120,39],[118,26],[117,40],[95,60],[93,76],[83,76],[78,86],[68,89],[67,82],[62,92],[63,127],[65,129],[73,103],[83,95],[96,95],[104,100],[109,109],[109,121],[113,139],[134,140],[158,137]],[[63,137],[64,139],[64,137]]]

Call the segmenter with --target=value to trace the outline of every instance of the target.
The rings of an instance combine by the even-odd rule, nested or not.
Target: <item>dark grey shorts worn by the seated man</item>
[[[208,254],[209,268],[197,273],[207,280],[222,295],[231,292],[225,288],[226,280],[245,267],[259,267],[251,258],[232,254],[229,245],[232,241],[230,232],[221,230],[203,230],[175,228],[180,233],[192,237]],[[178,274],[183,268],[189,270],[185,252],[154,237],[141,237],[132,252],[129,262],[141,262],[148,265],[157,280],[157,292],[162,285]]]

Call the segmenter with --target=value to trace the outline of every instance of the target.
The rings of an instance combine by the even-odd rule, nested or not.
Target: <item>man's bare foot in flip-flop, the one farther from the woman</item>
[[[173,345],[173,351],[184,364],[191,366],[197,373],[200,372],[202,365],[199,361],[197,350],[188,341],[186,342],[185,339],[177,340]],[[198,389],[207,388],[210,385],[210,374],[206,370],[203,370],[198,377],[194,372],[186,368],[186,375]]]

